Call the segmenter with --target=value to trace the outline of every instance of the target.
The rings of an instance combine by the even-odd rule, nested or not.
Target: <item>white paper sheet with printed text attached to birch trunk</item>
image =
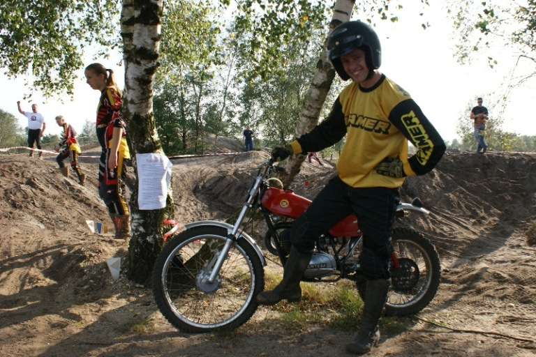
[[[137,193],[140,209],[164,208],[173,166],[170,159],[161,153],[137,153],[136,165],[140,181]]]

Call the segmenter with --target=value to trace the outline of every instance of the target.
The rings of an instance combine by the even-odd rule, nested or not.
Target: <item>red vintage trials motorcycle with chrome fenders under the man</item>
[[[266,259],[255,240],[242,227],[260,211],[267,225],[265,245],[281,264],[290,252],[288,229],[311,201],[284,189],[273,172],[283,170],[273,160],[262,162],[248,190],[244,206],[231,225],[206,220],[174,227],[156,259],[152,275],[153,294],[165,319],[180,331],[205,333],[241,326],[251,318],[255,296],[264,290]],[[419,199],[401,203],[396,216],[408,211],[429,214]],[[359,264],[362,232],[357,218],[349,215],[327,234],[318,237],[315,252],[302,280],[355,281],[364,298],[366,280]],[[419,231],[394,227],[391,252],[391,288],[385,314],[405,316],[426,307],[440,283],[440,260],[432,243]]]

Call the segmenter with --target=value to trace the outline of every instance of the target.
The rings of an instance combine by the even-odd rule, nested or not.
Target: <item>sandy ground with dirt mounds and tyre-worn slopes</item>
[[[249,168],[266,153],[174,160],[176,217],[225,219],[241,205]],[[333,166],[304,164],[297,192],[314,197]],[[87,184],[61,176],[52,155],[0,155],[0,356],[346,356],[355,330],[322,324],[286,328],[261,307],[228,334],[188,335],[158,312],[148,287],[106,259],[125,257],[96,192],[96,159],[82,159]],[[245,169],[245,170],[244,170]],[[302,183],[310,180],[311,184]],[[442,260],[432,303],[406,328],[382,333],[367,356],[536,356],[536,249],[524,231],[534,219],[536,155],[456,153],[431,174],[410,178],[431,215],[403,224],[422,231]],[[262,234],[255,236],[262,243]],[[281,269],[269,261],[269,269]]]

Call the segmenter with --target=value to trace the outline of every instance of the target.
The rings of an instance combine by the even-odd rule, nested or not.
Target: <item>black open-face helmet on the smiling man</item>
[[[380,39],[371,26],[361,21],[348,21],[336,26],[327,39],[329,61],[332,62],[338,75],[347,80],[350,78],[343,68],[341,56],[361,48],[365,52],[366,66],[373,75],[373,70],[382,64],[382,48]]]

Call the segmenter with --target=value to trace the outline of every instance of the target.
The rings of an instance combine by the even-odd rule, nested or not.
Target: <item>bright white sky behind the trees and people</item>
[[[472,62],[467,65],[457,63],[452,22],[446,19],[445,9],[440,8],[438,1],[433,3],[435,5],[426,7],[426,19],[419,16],[419,10],[406,7],[399,14],[399,22],[376,23],[375,30],[382,43],[380,71],[410,93],[448,142],[459,138],[456,134],[459,118],[470,120],[469,111],[476,105],[477,97],[484,98],[484,106],[489,109],[492,120],[493,114],[503,111],[503,130],[536,135],[536,120],[532,112],[526,114],[528,105],[536,102],[536,79],[512,91],[507,101],[498,105],[498,98],[505,93],[511,81],[517,57],[503,47],[505,51],[494,56],[499,63],[493,69],[489,68],[484,55],[479,58],[474,54]],[[352,20],[357,20],[357,16]],[[426,30],[421,26],[424,21],[431,24]],[[123,88],[124,68],[117,66],[119,60],[119,54],[114,59],[97,59],[114,70],[119,87]],[[87,64],[91,62],[92,59],[87,60]],[[534,70],[534,64],[528,60],[521,60],[520,64],[516,76]],[[94,123],[100,93],[85,83],[83,70],[77,74],[80,78],[75,82],[73,100],[65,98],[62,103],[59,98],[44,98],[37,91],[31,92],[24,87],[23,77],[8,79],[0,70],[0,109],[15,115],[20,126],[25,128],[27,119],[18,112],[17,100],[21,101],[25,111],[31,111],[31,104],[35,102],[47,122],[45,135],[60,134],[61,128],[54,121],[54,117],[60,114],[80,132],[86,121]],[[32,93],[31,101],[24,100],[23,93]],[[331,103],[327,105],[331,106]]]

